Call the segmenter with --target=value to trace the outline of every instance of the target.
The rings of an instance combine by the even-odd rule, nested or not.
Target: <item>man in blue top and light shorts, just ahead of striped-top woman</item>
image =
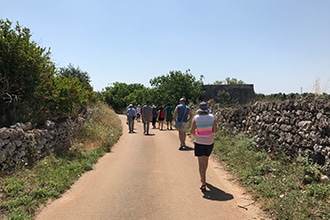
[[[181,98],[179,100],[179,104],[174,109],[173,118],[174,120],[181,124],[179,128],[176,128],[179,131],[179,140],[180,140],[180,148],[179,150],[183,150],[186,147],[186,127],[187,122],[191,119],[192,113],[190,108],[186,105],[185,99]]]

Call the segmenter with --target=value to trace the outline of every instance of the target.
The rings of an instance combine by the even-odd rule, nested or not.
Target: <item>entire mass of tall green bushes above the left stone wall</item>
[[[31,41],[28,28],[0,19],[1,127],[76,117],[97,100],[88,73],[72,65],[57,69],[50,54]]]

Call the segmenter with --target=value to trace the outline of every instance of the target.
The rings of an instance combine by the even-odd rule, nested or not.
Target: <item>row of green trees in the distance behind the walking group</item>
[[[116,112],[123,112],[129,103],[143,105],[147,100],[156,106],[165,106],[167,103],[175,105],[181,97],[188,102],[198,103],[204,95],[202,76],[200,80],[187,70],[170,71],[167,75],[150,80],[152,88],[141,84],[126,84],[115,82],[102,92],[103,100]]]

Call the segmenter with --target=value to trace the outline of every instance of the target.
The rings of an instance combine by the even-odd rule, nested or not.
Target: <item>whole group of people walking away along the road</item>
[[[194,155],[198,158],[202,184],[200,189],[202,191],[206,190],[206,170],[214,146],[213,134],[217,132],[215,117],[210,113],[207,103],[201,102],[194,116],[189,106],[186,105],[184,98],[179,100],[179,104],[174,109],[169,103],[164,108],[157,109],[154,105],[150,106],[149,101],[139,110],[138,107],[135,110],[133,105],[130,104],[126,110],[129,133],[134,133],[134,120],[138,120],[137,117],[139,117],[137,112],[142,118],[143,133],[145,135],[149,134],[150,122],[153,128],[156,128],[156,122],[158,121],[158,128],[163,130],[164,120],[166,120],[167,129],[172,130],[174,120],[174,127],[179,133],[179,150],[187,148],[187,123],[191,121],[190,133],[194,138]]]

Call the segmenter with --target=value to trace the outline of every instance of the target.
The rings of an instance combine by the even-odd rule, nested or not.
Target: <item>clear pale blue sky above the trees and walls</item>
[[[256,93],[330,93],[329,0],[0,0],[57,67],[95,91],[172,70],[205,84],[236,78]]]

